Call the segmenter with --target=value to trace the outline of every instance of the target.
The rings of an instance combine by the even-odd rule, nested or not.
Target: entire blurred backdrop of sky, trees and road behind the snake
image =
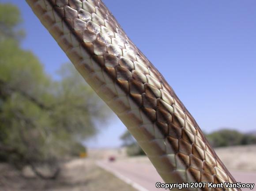
[[[104,2],[236,179],[256,183],[256,2]],[[26,2],[1,0],[0,190],[145,191],[157,181]]]

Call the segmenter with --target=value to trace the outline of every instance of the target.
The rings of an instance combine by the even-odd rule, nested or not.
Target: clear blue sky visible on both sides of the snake
[[[26,39],[47,73],[67,56],[24,0]],[[201,129],[256,130],[255,0],[105,0],[124,31],[158,68]],[[116,147],[125,127],[116,118],[91,147]]]

